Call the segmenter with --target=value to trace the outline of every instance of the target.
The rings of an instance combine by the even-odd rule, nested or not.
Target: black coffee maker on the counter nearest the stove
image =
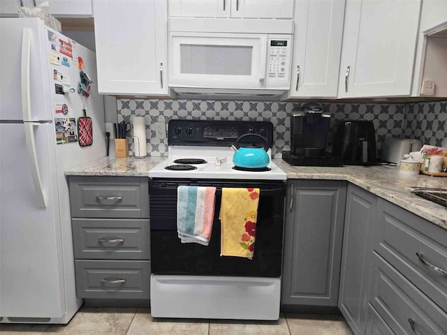
[[[291,112],[291,150],[282,158],[291,165],[340,166],[341,157],[325,152],[330,114],[319,103],[305,103]]]

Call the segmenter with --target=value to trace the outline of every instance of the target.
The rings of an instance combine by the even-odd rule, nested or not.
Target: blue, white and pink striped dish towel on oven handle
[[[177,188],[177,232],[182,243],[208,245],[214,218],[215,196],[215,187]]]

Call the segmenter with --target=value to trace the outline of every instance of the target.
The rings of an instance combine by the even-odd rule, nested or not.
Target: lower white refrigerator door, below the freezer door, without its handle
[[[54,126],[34,131],[47,207],[36,201],[23,124],[0,124],[0,316],[54,318],[65,311]],[[36,303],[36,301],[38,301]]]

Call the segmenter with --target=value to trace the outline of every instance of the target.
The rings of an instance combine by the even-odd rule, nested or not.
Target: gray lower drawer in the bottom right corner
[[[373,258],[373,285],[369,299],[393,332],[445,335],[447,314],[380,255],[374,252]]]

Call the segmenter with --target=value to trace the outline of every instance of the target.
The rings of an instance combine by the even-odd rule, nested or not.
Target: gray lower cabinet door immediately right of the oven
[[[281,304],[337,306],[346,184],[288,180]]]

